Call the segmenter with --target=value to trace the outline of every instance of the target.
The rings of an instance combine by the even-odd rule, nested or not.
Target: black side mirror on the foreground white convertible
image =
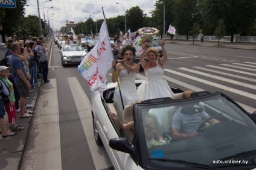
[[[127,154],[135,154],[134,146],[124,137],[116,137],[109,140],[110,148]]]

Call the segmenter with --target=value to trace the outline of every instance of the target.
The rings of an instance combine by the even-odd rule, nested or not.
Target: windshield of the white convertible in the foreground
[[[141,123],[135,130],[141,134],[149,161],[157,165],[216,166],[214,162],[230,160],[236,154],[235,160],[249,159],[240,153],[256,150],[255,122],[222,93],[150,104],[144,101],[137,107],[135,115]],[[174,136],[175,131],[186,137]]]

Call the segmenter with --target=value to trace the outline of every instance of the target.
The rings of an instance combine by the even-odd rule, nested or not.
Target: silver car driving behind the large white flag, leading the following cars
[[[86,49],[80,45],[66,45],[61,50],[62,66],[78,65],[87,54]]]

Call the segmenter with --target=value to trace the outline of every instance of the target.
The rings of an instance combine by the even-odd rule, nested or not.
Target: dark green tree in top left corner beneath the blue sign
[[[16,8],[0,8],[0,16],[2,22],[2,30],[0,30],[3,42],[5,42],[4,35],[11,36],[14,33],[14,28],[22,25],[22,18],[25,14],[25,5],[27,0],[16,1]]]

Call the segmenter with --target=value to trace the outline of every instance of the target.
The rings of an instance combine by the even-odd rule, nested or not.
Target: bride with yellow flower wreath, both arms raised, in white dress
[[[167,52],[164,48],[165,39],[161,42],[163,56],[159,60],[158,51],[155,48],[147,48],[139,56],[139,62],[146,74],[146,81],[138,87],[138,95],[142,100],[153,98],[172,98],[174,93],[171,91],[166,80],[162,79],[164,75],[164,64],[167,60]],[[146,56],[149,62],[144,60]]]

